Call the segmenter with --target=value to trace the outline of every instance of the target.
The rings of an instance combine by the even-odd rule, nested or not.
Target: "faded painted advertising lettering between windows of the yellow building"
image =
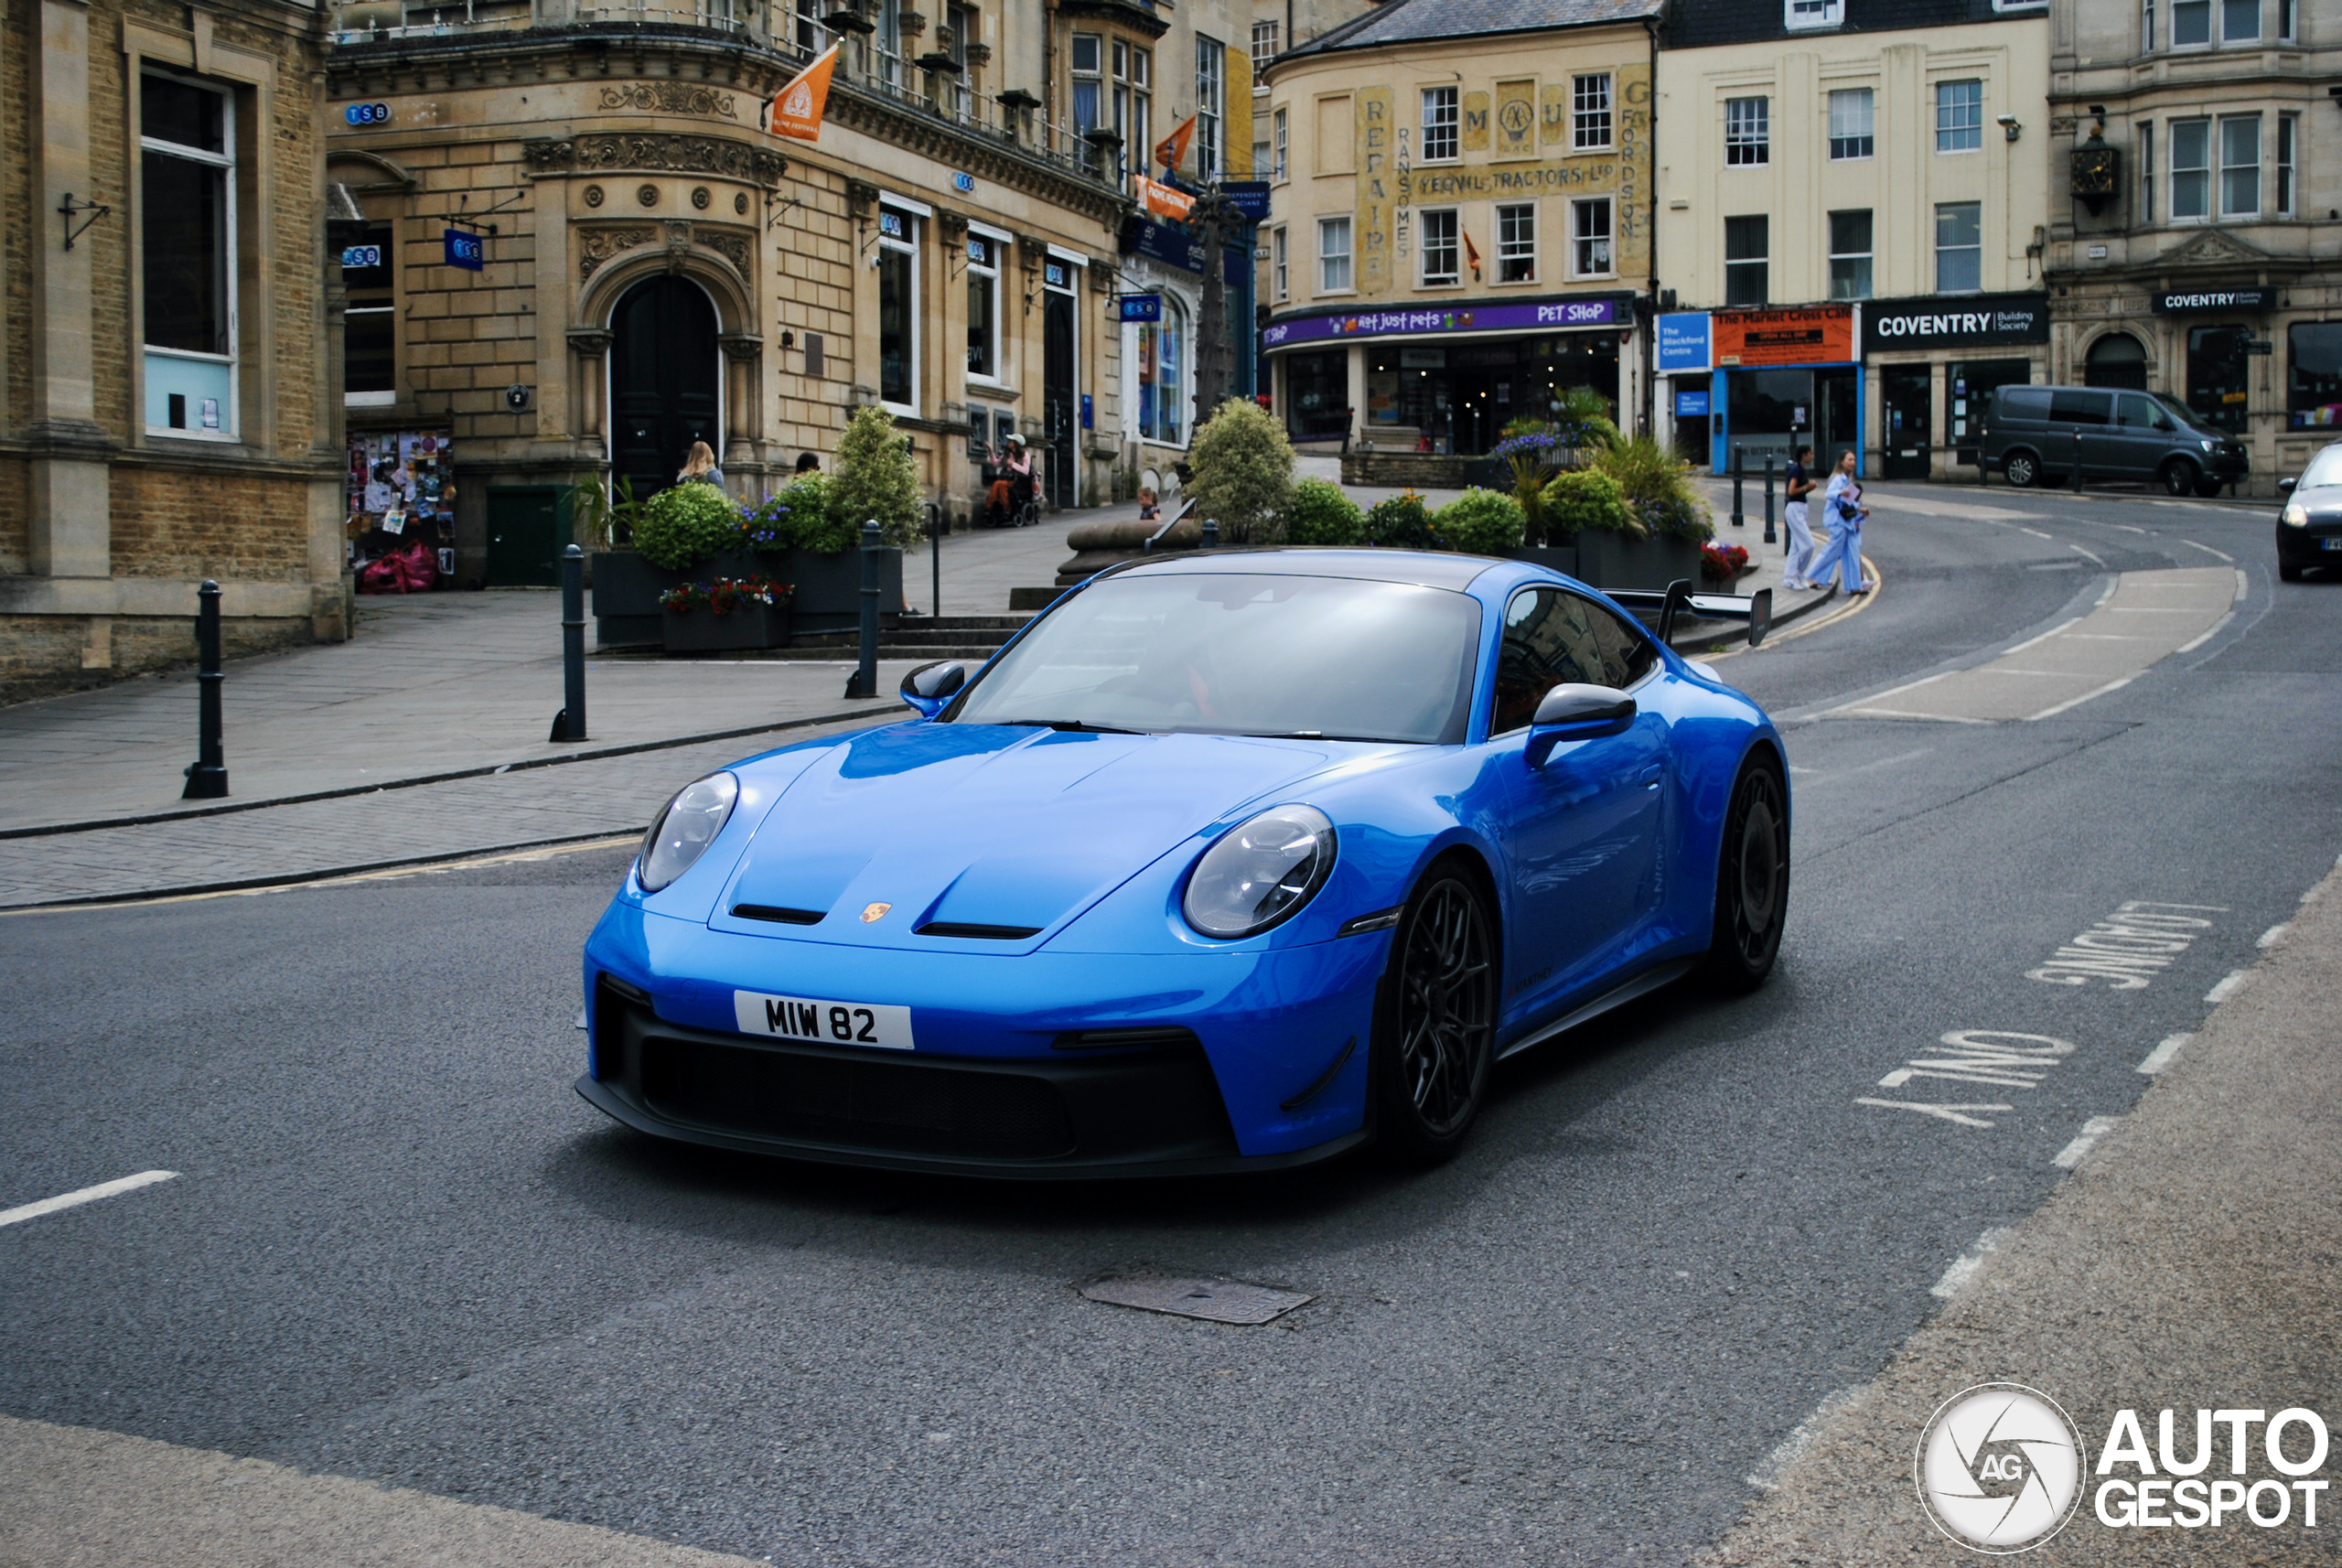
[[[1398,115],[1389,87],[1361,87],[1351,101],[1356,129],[1356,288],[1361,295],[1412,290],[1417,283],[1417,206],[1506,201],[1534,197],[1611,197],[1611,271],[1639,278],[1651,271],[1651,68],[1621,63],[1616,140],[1600,152],[1571,152],[1571,77],[1557,82],[1499,82],[1466,91],[1457,161],[1419,161],[1419,129]],[[1485,220],[1485,218],[1482,218]],[[1473,239],[1480,255],[1497,253],[1494,234],[1459,227],[1459,250]],[[1482,278],[1457,278],[1473,283]]]

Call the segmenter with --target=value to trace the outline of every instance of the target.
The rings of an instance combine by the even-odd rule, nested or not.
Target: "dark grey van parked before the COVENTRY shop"
[[[2253,461],[2244,442],[2162,393],[2105,386],[1995,386],[1977,435],[1986,468],[2009,484],[2155,480],[2173,496],[2220,494]]]

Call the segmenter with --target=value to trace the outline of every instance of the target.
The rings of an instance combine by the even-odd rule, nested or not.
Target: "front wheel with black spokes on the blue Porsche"
[[[1494,922],[1454,871],[1415,889],[1391,943],[1375,1039],[1384,1147],[1436,1163],[1464,1147],[1497,1060]]]

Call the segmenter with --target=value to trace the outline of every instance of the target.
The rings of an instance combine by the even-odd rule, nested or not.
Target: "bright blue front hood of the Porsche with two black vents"
[[[1253,800],[1276,805],[1297,782],[1372,751],[974,723],[874,730],[782,789],[710,924],[881,948],[1028,950],[1197,831]],[[745,920],[731,913],[740,906],[796,915]],[[1019,936],[916,936],[930,924]]]

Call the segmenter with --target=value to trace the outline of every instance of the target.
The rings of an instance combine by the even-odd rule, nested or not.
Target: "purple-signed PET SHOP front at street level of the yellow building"
[[[1283,316],[1262,328],[1276,407],[1297,440],[1485,456],[1515,419],[1590,386],[1621,410],[1635,353],[1632,295],[1461,309]]]

